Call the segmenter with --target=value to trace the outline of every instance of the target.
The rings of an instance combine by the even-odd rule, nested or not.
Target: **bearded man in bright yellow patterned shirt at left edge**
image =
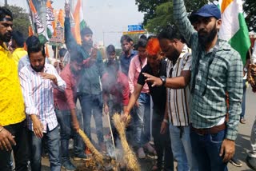
[[[10,42],[12,26],[12,13],[0,7],[0,170],[11,170],[13,149],[15,170],[23,171],[27,170],[28,161],[26,114],[18,67],[5,44]]]

